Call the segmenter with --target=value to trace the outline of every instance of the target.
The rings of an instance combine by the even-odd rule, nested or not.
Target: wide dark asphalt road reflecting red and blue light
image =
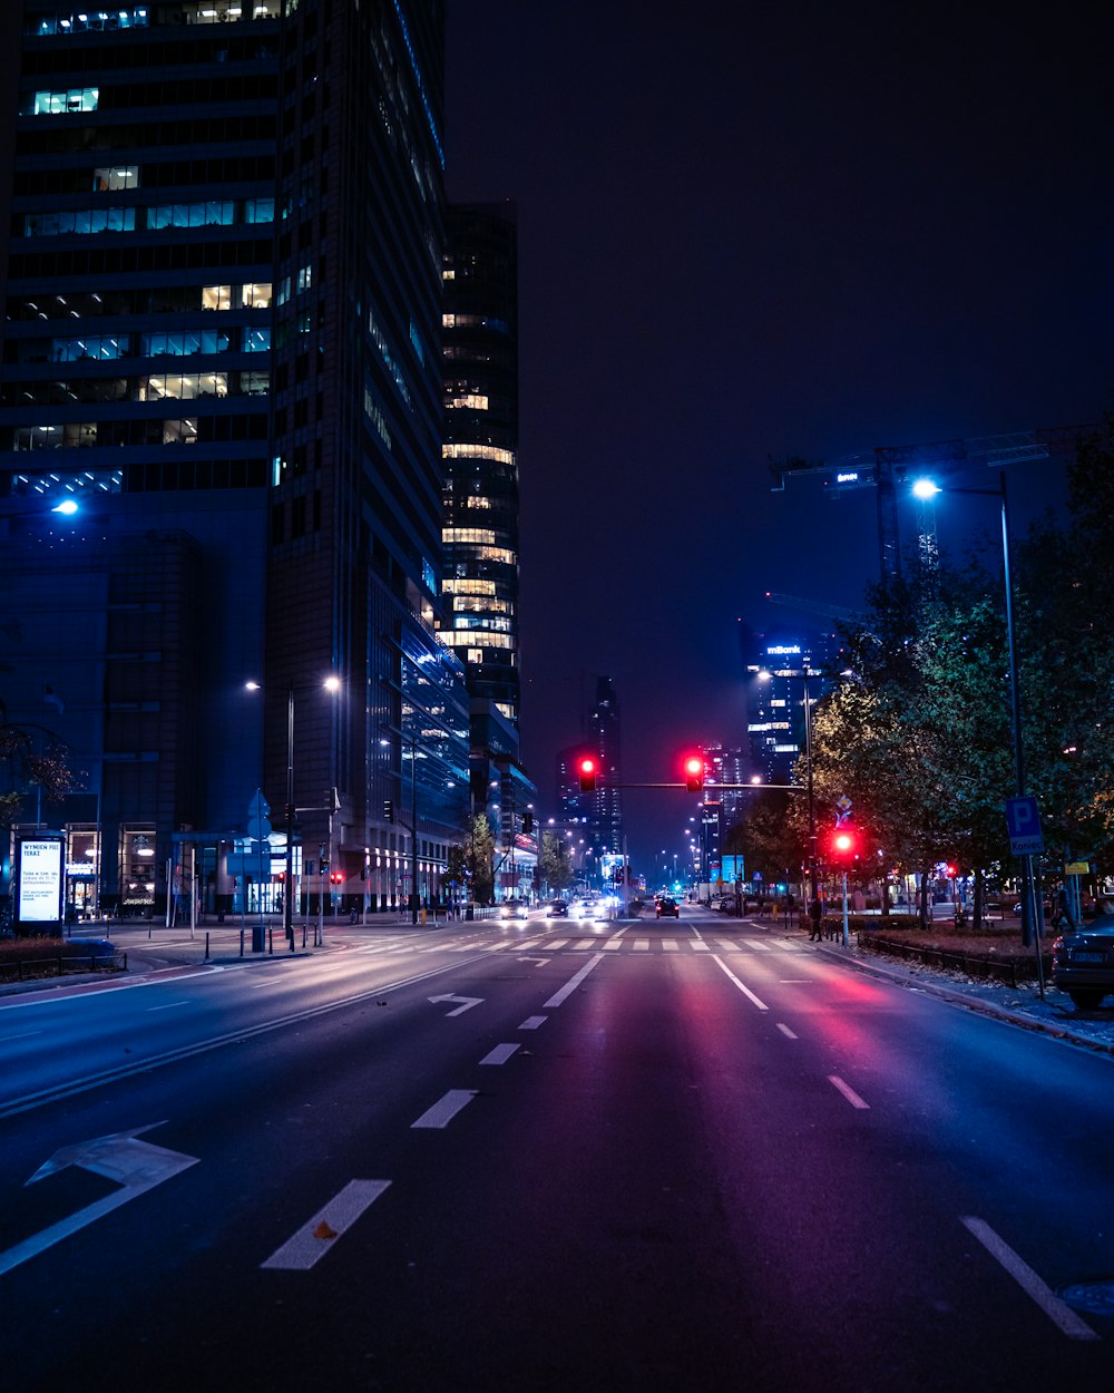
[[[0,1002],[6,1386],[1110,1383],[1110,1059],[699,910],[347,942]]]

